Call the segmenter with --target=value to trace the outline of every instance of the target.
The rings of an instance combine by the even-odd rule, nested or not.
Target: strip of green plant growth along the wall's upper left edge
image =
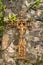
[[[4,20],[6,6],[3,6],[2,2],[3,2],[3,0],[0,0],[0,38],[2,38],[3,31],[5,29],[3,20]]]

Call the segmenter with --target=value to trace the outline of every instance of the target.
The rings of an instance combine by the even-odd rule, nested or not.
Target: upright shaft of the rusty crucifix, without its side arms
[[[19,18],[19,21],[17,22],[16,27],[19,29],[20,32],[20,39],[18,43],[18,59],[25,59],[26,58],[26,42],[23,38],[24,29],[26,30],[26,23],[24,19],[22,18],[22,14]]]

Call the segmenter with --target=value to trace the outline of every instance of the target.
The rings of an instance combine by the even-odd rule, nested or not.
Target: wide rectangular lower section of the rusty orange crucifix
[[[25,40],[20,40],[18,45],[18,59],[25,59],[26,58],[26,46]]]

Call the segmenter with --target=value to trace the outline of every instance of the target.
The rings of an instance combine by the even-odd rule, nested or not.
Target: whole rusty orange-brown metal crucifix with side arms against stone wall
[[[17,22],[13,24],[14,26],[17,27],[17,29],[19,29],[19,33],[20,33],[20,38],[19,38],[19,42],[18,42],[18,59],[26,58],[26,41],[23,38],[23,34],[28,26],[29,26],[29,28],[31,28],[31,26],[34,27],[33,23],[27,24],[27,22],[23,18],[23,15],[24,14],[21,12],[20,16],[19,16],[19,20],[17,20]]]

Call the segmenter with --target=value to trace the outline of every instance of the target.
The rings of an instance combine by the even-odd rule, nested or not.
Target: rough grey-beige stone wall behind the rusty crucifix
[[[21,10],[25,12],[30,2],[33,2],[33,0],[4,0],[3,4],[7,6],[5,16],[7,17],[9,13],[18,14]],[[40,5],[42,6],[43,4]],[[43,57],[43,8],[30,9],[25,13],[25,16],[26,18],[32,18],[35,25],[31,31],[27,29],[23,36],[26,41],[26,60],[17,59],[18,29],[8,29],[7,27],[2,38],[2,49],[7,48],[2,51],[0,65],[33,65]],[[6,46],[4,43],[6,43]]]

